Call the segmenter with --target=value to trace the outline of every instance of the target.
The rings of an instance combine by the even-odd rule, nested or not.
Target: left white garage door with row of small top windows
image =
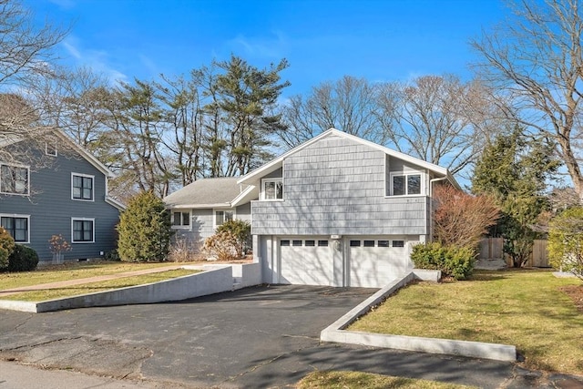
[[[332,241],[326,237],[279,239],[280,283],[332,285]]]

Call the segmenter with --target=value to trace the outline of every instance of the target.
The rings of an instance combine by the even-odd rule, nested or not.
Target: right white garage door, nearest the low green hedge
[[[382,288],[407,270],[407,241],[393,238],[348,238],[350,285]]]

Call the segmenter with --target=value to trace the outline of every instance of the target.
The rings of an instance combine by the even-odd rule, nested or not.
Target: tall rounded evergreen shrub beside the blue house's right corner
[[[151,191],[139,193],[119,218],[121,261],[166,261],[172,236],[170,226],[164,202]]]

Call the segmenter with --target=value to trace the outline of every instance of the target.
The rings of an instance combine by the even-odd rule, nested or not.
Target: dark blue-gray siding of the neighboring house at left
[[[71,199],[72,172],[94,176],[93,201]],[[52,235],[72,241],[71,218],[95,219],[95,242],[72,243],[66,260],[97,258],[100,251],[116,248],[119,211],[105,201],[105,175],[86,159],[59,155],[51,168],[31,171],[30,190],[30,197],[0,194],[0,213],[30,215],[26,246],[35,249],[41,261],[52,259],[48,244]]]

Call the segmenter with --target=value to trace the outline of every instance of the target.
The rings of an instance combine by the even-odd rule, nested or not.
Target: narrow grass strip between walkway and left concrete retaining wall
[[[124,277],[115,280],[103,282],[90,282],[81,285],[66,286],[56,289],[43,289],[40,291],[22,292],[10,294],[5,297],[0,296],[2,300],[18,300],[25,302],[43,302],[63,297],[76,296],[78,294],[87,294],[93,292],[105,292],[113,289],[127,288],[129,286],[143,285],[151,282],[160,282],[184,275],[194,274],[199,271],[178,269],[173,271],[160,271],[151,274],[143,274],[133,277]]]

